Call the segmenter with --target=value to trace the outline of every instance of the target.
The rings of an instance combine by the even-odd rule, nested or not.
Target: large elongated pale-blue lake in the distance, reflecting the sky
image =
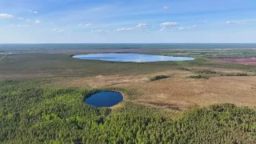
[[[191,61],[190,57],[170,57],[152,54],[81,54],[73,58],[102,60],[111,62],[162,62],[162,61]]]

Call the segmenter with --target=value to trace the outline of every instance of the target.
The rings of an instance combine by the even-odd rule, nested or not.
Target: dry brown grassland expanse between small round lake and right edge
[[[158,74],[169,74],[172,78],[148,81],[150,76]],[[190,74],[192,72],[169,70],[138,76],[99,75],[91,78],[65,79],[65,81],[63,79],[62,82],[55,84],[68,87],[115,86],[137,89],[139,95],[132,102],[174,110],[226,102],[237,106],[256,106],[256,77],[187,79],[186,76]]]

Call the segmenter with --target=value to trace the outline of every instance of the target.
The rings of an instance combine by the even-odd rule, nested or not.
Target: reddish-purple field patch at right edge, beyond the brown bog
[[[256,58],[215,58],[222,62],[237,62],[246,65],[256,66]]]

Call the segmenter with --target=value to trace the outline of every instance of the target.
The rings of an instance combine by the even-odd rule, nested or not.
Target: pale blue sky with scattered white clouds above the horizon
[[[0,43],[256,43],[255,0],[0,0]]]

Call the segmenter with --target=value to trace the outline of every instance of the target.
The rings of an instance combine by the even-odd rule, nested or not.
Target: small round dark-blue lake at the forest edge
[[[122,94],[114,91],[100,91],[85,99],[86,104],[96,107],[110,107],[122,102]]]

